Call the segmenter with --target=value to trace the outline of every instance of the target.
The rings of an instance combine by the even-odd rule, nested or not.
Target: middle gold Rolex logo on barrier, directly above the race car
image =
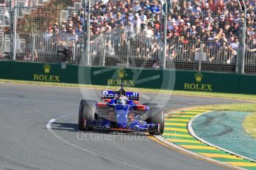
[[[108,86],[135,86],[134,80],[125,80],[125,77],[128,76],[128,74],[125,72],[125,69],[118,69],[116,72],[118,78],[108,79]]]

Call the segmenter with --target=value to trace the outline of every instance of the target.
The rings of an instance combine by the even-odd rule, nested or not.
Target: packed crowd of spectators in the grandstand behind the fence
[[[44,44],[81,45],[89,27],[93,55],[105,48],[107,55],[126,55],[129,50],[131,57],[160,58],[166,29],[166,58],[192,61],[201,57],[230,64],[236,61],[246,20],[246,56],[255,62],[256,0],[246,1],[246,7],[245,16],[237,0],[170,0],[167,11],[164,1],[96,0],[90,25],[82,7],[67,21],[47,27]]]

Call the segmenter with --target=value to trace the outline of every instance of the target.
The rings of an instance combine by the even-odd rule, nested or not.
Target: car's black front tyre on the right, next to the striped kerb
[[[149,109],[150,118],[148,123],[159,124],[158,129],[149,132],[150,135],[162,135],[165,130],[165,115],[160,107],[152,107]]]

